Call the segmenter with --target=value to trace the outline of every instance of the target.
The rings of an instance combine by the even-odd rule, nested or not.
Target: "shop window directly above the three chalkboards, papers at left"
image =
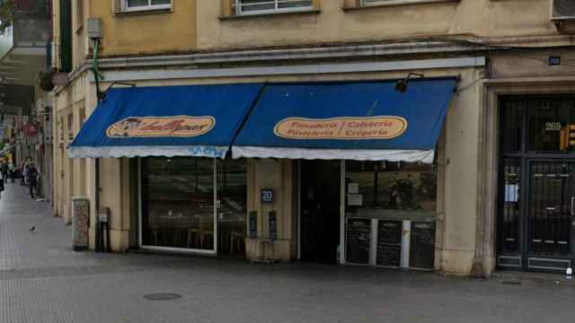
[[[345,181],[347,214],[436,212],[438,175],[434,164],[348,161]]]

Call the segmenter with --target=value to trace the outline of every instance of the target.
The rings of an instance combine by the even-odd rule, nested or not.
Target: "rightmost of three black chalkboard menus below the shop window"
[[[410,266],[433,269],[435,262],[435,223],[411,223]]]

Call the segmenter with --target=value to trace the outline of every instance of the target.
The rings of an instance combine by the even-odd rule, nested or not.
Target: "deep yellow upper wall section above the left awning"
[[[90,1],[90,16],[102,19],[102,56],[196,48],[196,0],[173,0],[173,10],[163,12],[114,13],[112,4],[111,0]]]

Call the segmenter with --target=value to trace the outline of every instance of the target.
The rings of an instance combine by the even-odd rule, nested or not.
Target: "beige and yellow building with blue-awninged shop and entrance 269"
[[[571,22],[527,2],[55,1],[54,211],[114,251],[563,271]]]

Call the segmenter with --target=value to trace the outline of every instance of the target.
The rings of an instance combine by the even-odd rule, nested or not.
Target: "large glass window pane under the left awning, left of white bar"
[[[214,249],[214,162],[207,158],[142,159],[142,242]]]

